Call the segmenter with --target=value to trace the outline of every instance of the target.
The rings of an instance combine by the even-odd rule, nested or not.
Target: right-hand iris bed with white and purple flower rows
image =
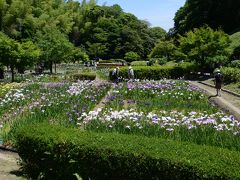
[[[183,81],[120,84],[105,108],[83,113],[77,125],[240,149],[240,123],[209,104],[207,96]],[[220,140],[221,139],[221,140]]]

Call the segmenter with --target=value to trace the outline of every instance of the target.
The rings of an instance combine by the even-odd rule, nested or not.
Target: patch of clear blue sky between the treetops
[[[99,5],[119,4],[124,12],[147,20],[152,27],[160,26],[166,31],[173,27],[173,18],[186,0],[98,0]]]

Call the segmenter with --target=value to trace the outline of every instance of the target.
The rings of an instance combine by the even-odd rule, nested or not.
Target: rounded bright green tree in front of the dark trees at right
[[[185,56],[187,60],[202,66],[203,70],[211,70],[227,63],[229,44],[229,36],[223,31],[201,27],[180,36],[177,55]]]

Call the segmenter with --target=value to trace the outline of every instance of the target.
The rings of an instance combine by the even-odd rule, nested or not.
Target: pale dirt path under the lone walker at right
[[[217,104],[224,111],[234,115],[237,120],[240,121],[240,97],[230,94],[229,92],[222,91],[221,97],[216,96],[216,90],[214,87],[203,84],[198,81],[190,81],[192,85],[203,89],[208,95],[209,100]]]

